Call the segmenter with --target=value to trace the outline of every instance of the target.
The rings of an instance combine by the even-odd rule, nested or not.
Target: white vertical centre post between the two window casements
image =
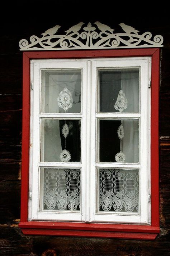
[[[96,61],[88,61],[88,86],[87,86],[87,118],[88,118],[88,133],[87,141],[89,146],[87,147],[87,166],[86,173],[87,179],[87,204],[86,204],[86,216],[89,214],[89,219],[86,221],[94,221],[95,215],[95,105],[96,105]]]

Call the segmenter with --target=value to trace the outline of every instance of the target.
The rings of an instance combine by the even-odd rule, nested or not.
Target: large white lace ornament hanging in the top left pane
[[[70,93],[70,91],[67,89],[67,87],[65,87],[59,94],[58,98],[58,106],[60,108],[63,108],[65,111],[68,108],[72,107],[72,103],[73,103],[73,99],[72,99],[72,95]]]

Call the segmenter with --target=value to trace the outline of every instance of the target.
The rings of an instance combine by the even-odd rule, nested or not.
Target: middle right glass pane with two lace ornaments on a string
[[[139,162],[139,120],[99,120],[99,162]]]

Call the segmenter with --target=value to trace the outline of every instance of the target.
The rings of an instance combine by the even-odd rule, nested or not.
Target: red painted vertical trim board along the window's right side
[[[160,49],[152,55],[151,85],[151,224],[159,226],[159,63]]]

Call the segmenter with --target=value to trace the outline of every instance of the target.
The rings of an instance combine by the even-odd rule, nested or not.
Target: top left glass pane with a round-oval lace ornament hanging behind
[[[41,112],[81,112],[81,70],[42,70]]]

